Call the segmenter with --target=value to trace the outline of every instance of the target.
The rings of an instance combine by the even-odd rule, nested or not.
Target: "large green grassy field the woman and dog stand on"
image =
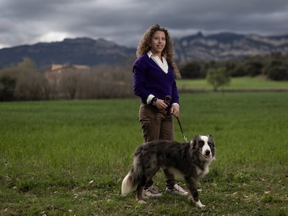
[[[287,215],[288,92],[180,99],[186,137],[216,141],[199,183],[206,208],[166,194],[161,172],[161,199],[120,196],[142,142],[138,99],[36,101],[0,103],[0,215]],[[175,138],[182,141],[177,121]]]

